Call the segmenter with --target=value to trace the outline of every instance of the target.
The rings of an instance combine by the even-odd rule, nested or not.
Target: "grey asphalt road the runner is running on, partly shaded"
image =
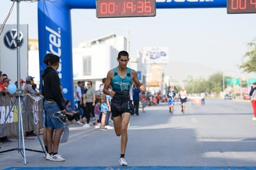
[[[145,111],[130,119],[126,160],[131,167],[256,166],[256,122],[248,101],[206,99],[205,106],[188,104],[185,114],[180,106],[170,114],[167,103]],[[22,155],[14,150],[0,153],[1,169],[119,166],[121,138],[114,130],[85,129],[79,124],[69,128],[69,141],[59,146],[66,161],[46,161],[43,153],[25,151],[24,164]],[[30,138],[25,140],[25,148],[41,150],[38,138]],[[17,138],[11,140],[1,145],[0,151],[17,148]]]

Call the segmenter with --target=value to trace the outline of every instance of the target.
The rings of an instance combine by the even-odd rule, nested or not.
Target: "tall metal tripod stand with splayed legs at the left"
[[[2,130],[4,129],[4,125],[6,125],[7,119],[9,118],[12,109],[14,108],[14,104],[16,103],[17,100],[17,114],[18,114],[18,147],[17,148],[12,148],[11,150],[5,150],[5,151],[0,151],[0,153],[4,153],[7,151],[13,151],[13,150],[18,150],[18,152],[23,156],[24,158],[24,164],[27,164],[27,160],[26,160],[26,153],[25,150],[29,150],[29,151],[37,151],[37,152],[41,152],[41,153],[45,153],[45,148],[43,147],[43,144],[38,136],[38,132],[36,131],[36,127],[35,127],[35,123],[32,120],[32,117],[30,116],[30,113],[28,113],[28,109],[25,106],[25,103],[22,99],[22,97],[24,96],[24,90],[22,88],[20,88],[20,20],[19,20],[19,3],[22,0],[11,0],[11,1],[16,1],[17,2],[17,82],[18,82],[18,88],[16,90],[16,98],[14,100],[14,103],[12,103],[12,106],[9,110],[9,113],[6,116],[6,119],[4,121],[4,124],[1,127],[0,130],[0,134],[2,132]],[[24,1],[24,0],[23,0]],[[43,151],[39,151],[39,150],[32,150],[32,149],[27,149],[25,148],[25,142],[24,142],[24,135],[23,135],[23,121],[22,121],[22,106],[21,106],[21,101],[23,101],[23,106],[26,110],[26,112],[28,113],[28,117],[33,125],[33,129],[35,129],[36,132],[36,136],[38,137],[38,140],[40,142],[41,148],[43,149]],[[22,141],[21,141],[22,140]],[[46,153],[45,153],[46,156]]]

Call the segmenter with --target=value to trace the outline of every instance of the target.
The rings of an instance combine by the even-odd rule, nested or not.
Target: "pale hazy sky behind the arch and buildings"
[[[9,0],[1,1],[0,23],[11,4]],[[7,23],[16,22],[15,4]],[[37,39],[36,2],[20,2],[20,23],[28,23],[29,38]],[[247,43],[256,37],[255,30],[255,14],[227,14],[225,8],[157,9],[156,17],[115,19],[97,19],[95,9],[72,10],[73,46],[110,33],[127,36],[129,32],[131,56],[143,46],[167,46],[169,65],[186,62],[191,67],[197,64],[197,69],[202,64],[232,76],[240,74],[237,66],[248,49]]]

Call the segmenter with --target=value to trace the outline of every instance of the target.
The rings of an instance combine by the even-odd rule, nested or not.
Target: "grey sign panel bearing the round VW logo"
[[[28,25],[20,27],[20,79],[28,75]],[[0,70],[7,74],[10,83],[17,81],[17,25],[6,24],[0,35]],[[32,77],[34,77],[32,75]]]

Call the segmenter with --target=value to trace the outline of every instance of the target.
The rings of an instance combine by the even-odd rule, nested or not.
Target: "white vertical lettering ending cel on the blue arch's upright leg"
[[[45,29],[49,32],[49,51],[47,50],[46,53],[52,53],[59,56],[59,69],[57,71],[59,74],[59,79],[61,79],[61,28],[58,28],[58,32],[47,26]]]

